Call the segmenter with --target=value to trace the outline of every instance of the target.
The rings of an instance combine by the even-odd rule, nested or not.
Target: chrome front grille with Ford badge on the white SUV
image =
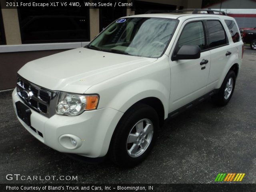
[[[50,118],[56,108],[59,92],[40,87],[18,75],[17,93],[36,112]]]

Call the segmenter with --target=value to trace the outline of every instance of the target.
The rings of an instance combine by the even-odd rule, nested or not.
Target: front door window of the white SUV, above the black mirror
[[[205,49],[204,27],[202,21],[188,23],[182,30],[178,40],[178,49],[182,45],[198,45]]]

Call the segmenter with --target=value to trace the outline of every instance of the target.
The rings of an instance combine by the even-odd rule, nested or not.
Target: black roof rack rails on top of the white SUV
[[[206,14],[200,13],[201,11],[206,11],[207,14],[215,14],[214,12],[218,12],[223,15],[227,15],[224,11],[212,10],[212,9],[180,9],[180,10],[149,10],[145,14],[149,13],[182,13],[191,11],[192,14]]]

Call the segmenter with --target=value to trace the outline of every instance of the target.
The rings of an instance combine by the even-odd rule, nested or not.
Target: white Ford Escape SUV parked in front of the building
[[[86,47],[28,62],[12,93],[18,120],[60,152],[142,162],[168,116],[209,96],[221,106],[232,97],[238,26],[200,11],[120,18]]]

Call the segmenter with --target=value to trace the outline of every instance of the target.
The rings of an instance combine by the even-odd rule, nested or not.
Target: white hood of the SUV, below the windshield
[[[90,86],[156,60],[77,48],[28,62],[18,74],[50,90],[84,93]]]

